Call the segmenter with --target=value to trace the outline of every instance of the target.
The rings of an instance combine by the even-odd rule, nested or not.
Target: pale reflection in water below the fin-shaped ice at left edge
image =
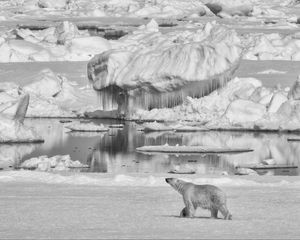
[[[32,153],[41,144],[1,144],[0,168],[8,169],[19,165],[22,158]]]

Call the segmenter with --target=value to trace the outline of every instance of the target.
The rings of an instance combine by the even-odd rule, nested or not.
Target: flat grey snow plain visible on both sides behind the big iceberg
[[[266,87],[274,87],[277,84],[291,87],[299,75],[299,64],[299,61],[242,60],[234,76],[260,79]],[[0,63],[0,81],[13,81],[23,86],[32,81],[34,74],[38,74],[45,68],[50,68],[53,72],[62,74],[80,85],[84,86],[88,83],[86,61]],[[269,69],[284,73],[273,71],[273,73],[261,74]]]

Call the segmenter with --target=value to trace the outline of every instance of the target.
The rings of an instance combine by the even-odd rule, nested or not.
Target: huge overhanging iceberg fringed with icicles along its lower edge
[[[170,107],[203,96],[227,82],[242,54],[236,32],[214,22],[163,34],[151,20],[118,45],[88,63],[104,109]]]

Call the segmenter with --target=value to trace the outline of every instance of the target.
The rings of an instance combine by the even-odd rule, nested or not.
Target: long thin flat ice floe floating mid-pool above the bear
[[[155,152],[155,153],[170,153],[170,154],[199,154],[199,153],[242,153],[251,152],[253,149],[249,148],[225,148],[212,146],[170,146],[153,145],[143,146],[136,149],[139,152]]]

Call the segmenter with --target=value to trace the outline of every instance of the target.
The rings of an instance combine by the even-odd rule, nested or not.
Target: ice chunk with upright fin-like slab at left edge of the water
[[[0,93],[0,95],[3,94]],[[6,96],[4,96],[6,97]],[[29,105],[29,95],[26,94],[17,100],[11,100],[0,105],[0,143],[36,143],[43,142],[43,138],[31,127],[23,124]],[[15,106],[14,116],[4,114],[5,110]]]

